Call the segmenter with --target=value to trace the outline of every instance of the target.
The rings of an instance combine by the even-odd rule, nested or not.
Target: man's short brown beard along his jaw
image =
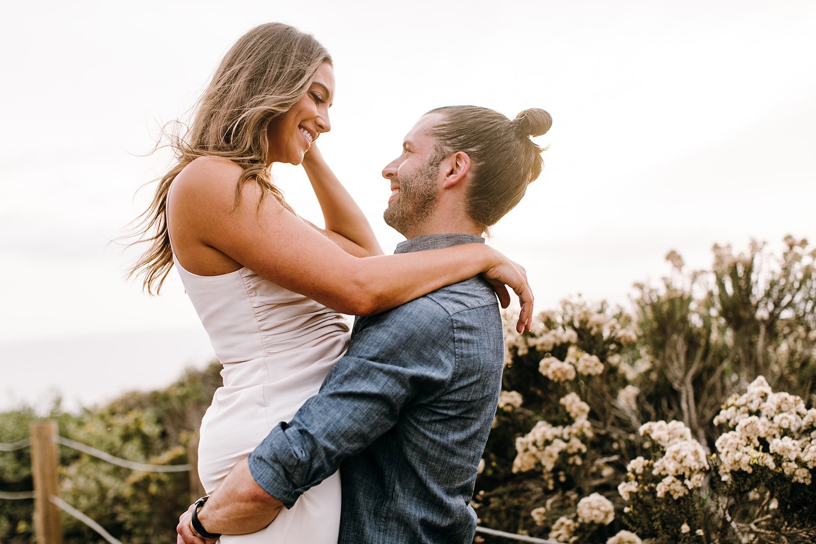
[[[391,206],[383,212],[383,219],[406,238],[417,236],[417,232],[437,209],[439,192],[436,178],[439,166],[426,162],[419,169],[405,177],[397,178],[400,193]]]

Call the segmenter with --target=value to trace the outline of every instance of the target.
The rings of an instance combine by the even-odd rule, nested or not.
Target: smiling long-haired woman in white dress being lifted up
[[[277,422],[317,393],[348,342],[341,313],[367,315],[483,272],[530,327],[523,270],[481,244],[381,256],[361,210],[314,140],[330,130],[335,82],[326,50],[285,24],[262,24],[228,51],[206,88],[178,163],[143,220],[148,290],[175,263],[224,365],[202,420],[199,475],[210,493]],[[270,179],[303,164],[326,228],[299,219]],[[223,542],[336,542],[339,475],[309,489],[259,533]]]

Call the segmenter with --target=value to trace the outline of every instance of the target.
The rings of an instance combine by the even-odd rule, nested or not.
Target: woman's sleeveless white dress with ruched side
[[[224,369],[224,387],[202,419],[198,475],[207,493],[278,422],[289,421],[317,393],[348,347],[342,314],[265,280],[248,268],[197,276],[173,255],[184,288]],[[283,509],[258,533],[223,544],[336,544],[340,477],[336,473]]]

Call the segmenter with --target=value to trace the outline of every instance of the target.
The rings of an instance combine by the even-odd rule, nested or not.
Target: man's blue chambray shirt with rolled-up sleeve
[[[431,235],[396,253],[479,241]],[[341,544],[469,544],[503,355],[499,305],[479,277],[357,318],[317,396],[251,453],[251,474],[288,508],[340,467]]]

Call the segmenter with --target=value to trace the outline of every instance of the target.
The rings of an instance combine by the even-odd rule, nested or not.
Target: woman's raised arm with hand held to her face
[[[312,226],[357,257],[383,254],[368,219],[326,164],[317,145],[312,144],[304,156],[303,166],[326,222],[325,230]]]

